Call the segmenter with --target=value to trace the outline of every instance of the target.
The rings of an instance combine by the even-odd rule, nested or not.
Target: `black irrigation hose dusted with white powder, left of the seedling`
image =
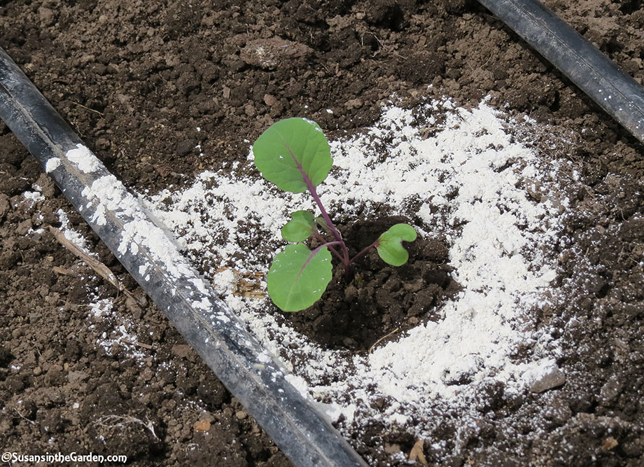
[[[1,48],[0,118],[295,465],[367,465]]]

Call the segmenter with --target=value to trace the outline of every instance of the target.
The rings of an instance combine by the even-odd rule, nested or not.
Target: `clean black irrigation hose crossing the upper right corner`
[[[644,143],[644,88],[537,0],[479,0]]]

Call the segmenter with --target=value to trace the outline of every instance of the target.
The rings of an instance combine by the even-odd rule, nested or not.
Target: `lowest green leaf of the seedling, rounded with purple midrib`
[[[299,312],[320,299],[331,277],[331,253],[326,246],[314,255],[304,244],[287,245],[266,275],[268,295],[283,311]]]

